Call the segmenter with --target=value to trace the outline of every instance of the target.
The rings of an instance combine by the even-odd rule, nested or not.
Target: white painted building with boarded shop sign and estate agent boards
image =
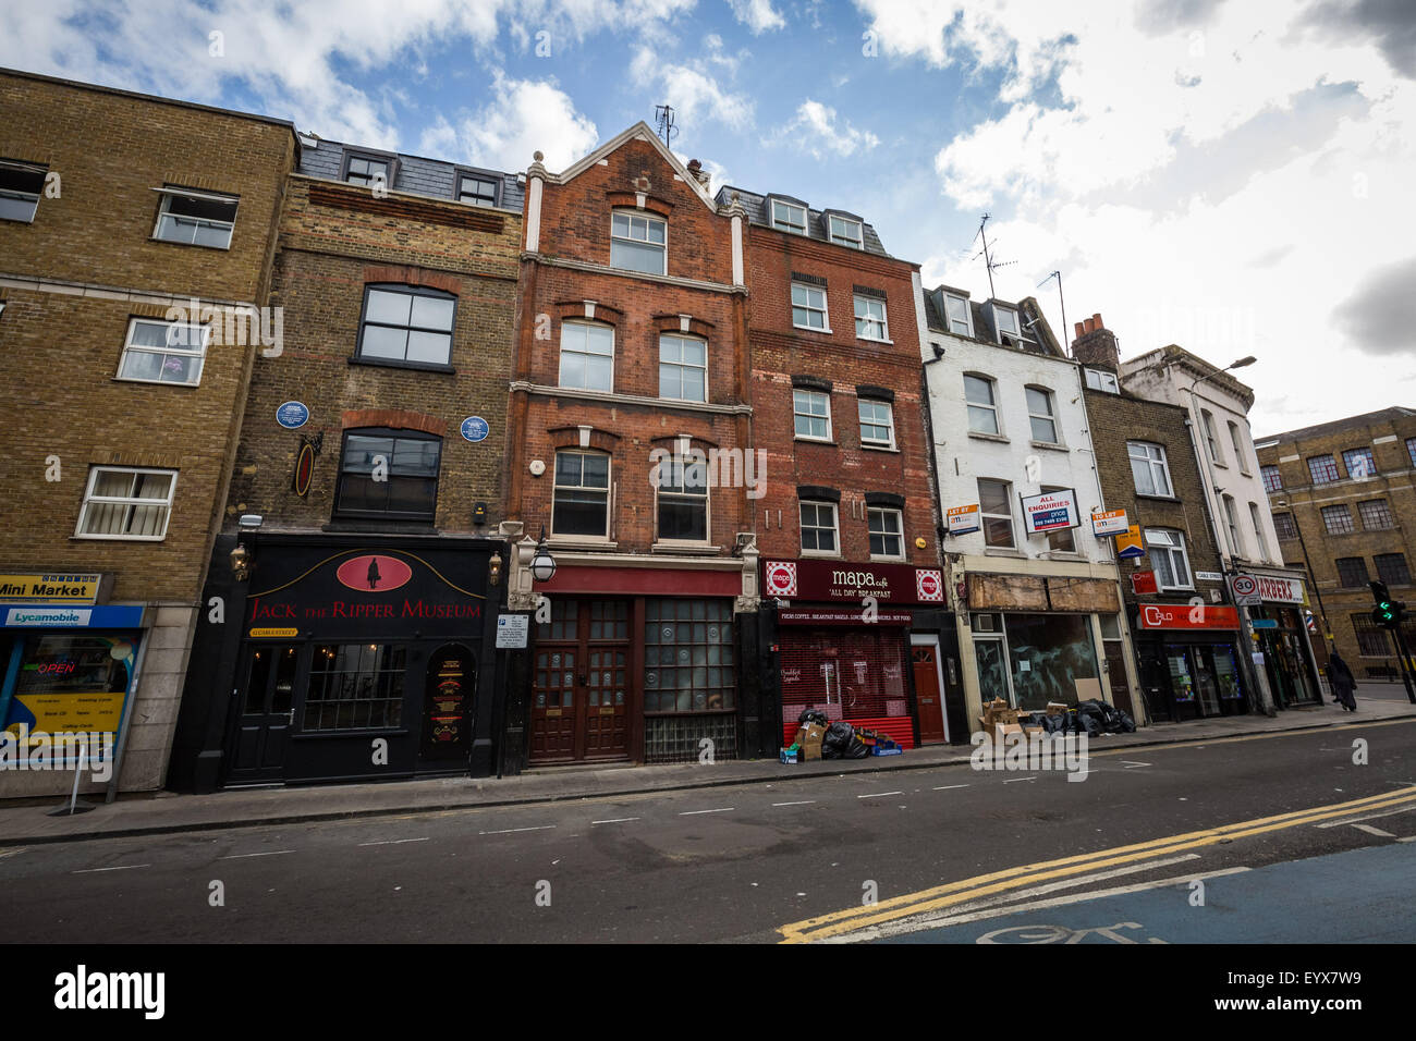
[[[969,729],[994,697],[1024,710],[1109,701],[1110,670],[1136,684],[1134,656],[1112,540],[1092,534],[1106,503],[1082,370],[1031,297],[920,286],[916,303]],[[1042,494],[1078,527],[1028,534],[1027,507]]]

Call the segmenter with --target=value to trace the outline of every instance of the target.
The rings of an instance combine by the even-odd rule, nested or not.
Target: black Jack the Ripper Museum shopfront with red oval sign
[[[180,786],[494,772],[504,586],[489,565],[500,571],[500,541],[241,542],[246,581],[219,547],[214,559],[208,602],[228,586],[227,619],[204,619],[193,649],[173,756]]]

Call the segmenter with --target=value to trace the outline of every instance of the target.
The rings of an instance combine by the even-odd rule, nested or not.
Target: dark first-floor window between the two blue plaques
[[[442,439],[408,431],[350,431],[334,513],[350,518],[432,521]]]

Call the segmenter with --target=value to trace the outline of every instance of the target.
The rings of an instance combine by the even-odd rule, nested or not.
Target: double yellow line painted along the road
[[[1068,875],[1085,874],[1097,868],[1130,864],[1138,860],[1148,860],[1151,857],[1161,857],[1184,850],[1195,850],[1202,846],[1214,846],[1215,843],[1226,840],[1247,838],[1249,836],[1263,834],[1264,831],[1277,831],[1286,827],[1311,824],[1330,817],[1344,817],[1358,810],[1376,810],[1410,802],[1416,802],[1416,786],[1402,787],[1395,792],[1374,795],[1365,799],[1354,799],[1345,803],[1332,803],[1330,806],[1314,806],[1307,810],[1294,810],[1293,813],[1280,813],[1274,817],[1260,817],[1257,820],[1246,820],[1238,824],[1221,824],[1219,827],[1205,829],[1204,831],[1188,831],[1185,834],[1170,836],[1167,838],[1153,838],[1133,846],[1117,846],[1112,850],[1083,853],[1075,857],[1063,857],[1062,860],[1024,864],[1004,871],[994,871],[987,875],[964,878],[959,882],[936,885],[932,889],[920,889],[919,892],[910,892],[903,897],[893,897],[879,904],[867,904],[858,908],[835,911],[830,915],[807,918],[801,922],[783,925],[777,929],[777,932],[782,933],[783,943],[810,943],[811,940],[841,936],[872,925],[881,925],[882,922],[895,922],[902,918],[912,918],[930,911],[967,904],[969,901],[976,901],[981,897],[990,897],[998,892],[1007,892],[1008,889],[1021,889],[1051,878],[1065,878]]]

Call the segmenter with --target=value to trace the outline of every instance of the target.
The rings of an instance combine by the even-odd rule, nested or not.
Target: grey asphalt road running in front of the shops
[[[1416,867],[1416,843],[1399,841],[1416,836],[1416,721],[1092,752],[1080,783],[967,766],[793,780],[783,766],[773,785],[6,848],[0,912],[11,943],[971,943],[1123,921],[1147,932],[1113,932],[1143,942],[1243,939],[1231,912],[1144,905],[1178,906],[1198,877],[1209,908],[1264,892],[1270,925],[1249,939],[1369,939],[1374,916],[1382,938],[1416,939],[1416,909],[1386,882]],[[1328,882],[1311,858],[1348,851],[1366,851],[1344,870],[1369,899],[1348,902],[1347,926],[1318,923]],[[1236,880],[1298,861],[1318,874],[1239,894]],[[1048,915],[1007,918],[1041,901]],[[942,923],[959,915],[983,916]]]

